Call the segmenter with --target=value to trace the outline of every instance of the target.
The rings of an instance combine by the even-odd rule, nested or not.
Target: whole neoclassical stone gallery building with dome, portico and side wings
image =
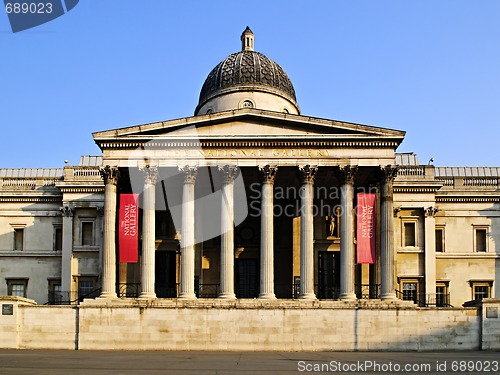
[[[396,153],[403,131],[303,116],[250,29],[241,41],[194,116],[94,133],[102,155],[77,166],[0,170],[0,295],[500,296],[500,168],[422,165]],[[361,263],[360,193],[375,197]],[[122,262],[131,194],[137,261]]]

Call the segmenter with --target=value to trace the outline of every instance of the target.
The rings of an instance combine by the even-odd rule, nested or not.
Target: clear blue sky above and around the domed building
[[[302,114],[405,130],[422,164],[500,166],[499,20],[497,0],[82,0],[14,34],[0,9],[0,167],[75,164],[92,132],[191,116],[247,25]]]

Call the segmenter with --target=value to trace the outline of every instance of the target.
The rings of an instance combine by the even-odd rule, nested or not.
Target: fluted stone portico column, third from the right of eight
[[[300,295],[302,299],[316,299],[314,294],[314,217],[313,185],[317,166],[299,168],[300,196]]]

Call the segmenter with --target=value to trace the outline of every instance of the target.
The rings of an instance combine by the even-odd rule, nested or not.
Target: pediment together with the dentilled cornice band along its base
[[[217,134],[205,131],[209,127],[215,129],[231,124],[237,124],[231,128],[234,132]],[[182,132],[188,127],[196,129],[195,136]],[[245,127],[252,127],[252,131],[242,133],[241,129]],[[269,130],[275,129],[279,129],[279,132],[269,134]],[[240,109],[93,133],[95,142],[101,148],[136,148],[156,140],[158,147],[182,147],[186,142],[193,141],[197,146],[201,143],[202,147],[396,148],[404,135],[405,132],[399,130],[256,109]]]

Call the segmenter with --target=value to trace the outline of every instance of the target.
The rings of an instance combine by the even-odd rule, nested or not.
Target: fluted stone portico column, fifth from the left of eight
[[[275,299],[274,294],[274,178],[278,167],[259,168],[262,182],[260,212],[260,293],[259,298]]]

